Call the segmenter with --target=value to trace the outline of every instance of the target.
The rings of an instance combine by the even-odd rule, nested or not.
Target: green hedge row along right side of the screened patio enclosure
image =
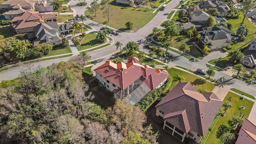
[[[161,88],[156,88],[152,92],[148,93],[142,100],[140,100],[135,106],[140,107],[143,112],[146,112],[148,107],[154,103],[158,97],[162,94]]]

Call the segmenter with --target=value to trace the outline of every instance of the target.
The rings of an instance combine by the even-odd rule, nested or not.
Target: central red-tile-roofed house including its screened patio
[[[114,92],[116,99],[125,99],[136,104],[148,92],[161,87],[169,78],[166,70],[142,66],[138,58],[129,58],[128,63],[108,61],[94,70],[99,84]]]

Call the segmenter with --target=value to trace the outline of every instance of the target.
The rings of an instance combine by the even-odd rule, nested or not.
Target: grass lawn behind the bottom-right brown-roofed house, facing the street
[[[212,92],[212,90],[215,87],[214,84],[212,84],[206,80],[203,80],[193,74],[184,72],[183,70],[178,70],[176,68],[169,68],[167,71],[172,76],[172,78],[176,75],[180,75],[180,76],[184,77],[187,82],[190,82],[192,85],[195,85],[196,88],[198,88],[200,90],[208,90],[209,92]],[[166,94],[167,94],[167,92],[172,90],[172,88],[174,88],[174,86],[176,86],[176,84],[178,84],[177,80],[172,81],[172,85],[170,86],[169,90],[166,91]]]

